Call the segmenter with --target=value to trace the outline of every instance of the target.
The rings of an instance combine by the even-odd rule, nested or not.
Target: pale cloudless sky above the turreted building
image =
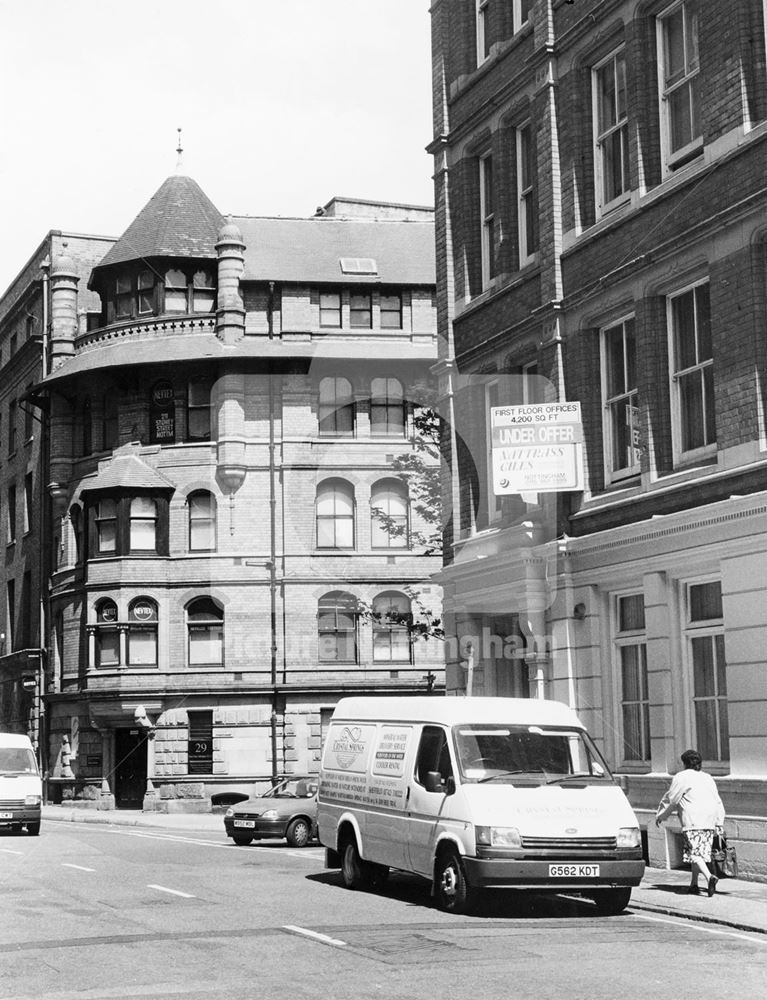
[[[176,169],[224,215],[433,203],[428,0],[0,0],[0,294]]]

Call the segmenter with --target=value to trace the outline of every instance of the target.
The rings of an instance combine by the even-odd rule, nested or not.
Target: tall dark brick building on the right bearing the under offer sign
[[[448,691],[574,705],[655,863],[697,746],[765,878],[764,4],[435,0],[432,24]],[[496,497],[489,408],[554,400],[581,405],[583,489]]]

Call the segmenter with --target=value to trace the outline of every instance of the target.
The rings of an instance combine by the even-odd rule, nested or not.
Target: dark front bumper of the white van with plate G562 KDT
[[[593,861],[579,859],[575,865],[598,865],[599,875],[587,877],[553,877],[549,861],[515,861],[507,858],[464,858],[464,870],[469,885],[477,888],[546,888],[554,892],[565,890],[609,888],[610,886],[639,885],[644,875],[643,860]]]

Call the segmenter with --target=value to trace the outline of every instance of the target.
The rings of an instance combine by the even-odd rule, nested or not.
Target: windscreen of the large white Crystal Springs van
[[[459,725],[453,735],[461,778],[466,782],[545,785],[613,780],[582,729]]]

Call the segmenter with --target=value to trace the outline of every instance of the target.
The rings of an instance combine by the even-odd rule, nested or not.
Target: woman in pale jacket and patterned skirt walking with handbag
[[[684,770],[674,775],[671,787],[660,800],[655,825],[660,826],[673,812],[678,814],[684,834],[683,860],[692,869],[688,892],[699,894],[698,875],[702,875],[706,891],[713,896],[718,879],[711,874],[708,864],[714,833],[724,832],[724,806],[714,779],[701,770],[703,758],[698,751],[685,750],[682,763]]]

